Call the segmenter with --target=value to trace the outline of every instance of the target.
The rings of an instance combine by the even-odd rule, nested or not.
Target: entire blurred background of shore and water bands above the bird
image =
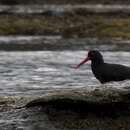
[[[0,49],[83,50],[93,45],[100,50],[129,51],[129,3],[0,0]]]

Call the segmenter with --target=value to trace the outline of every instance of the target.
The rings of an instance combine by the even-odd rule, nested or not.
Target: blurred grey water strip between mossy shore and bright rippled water
[[[60,43],[60,44],[59,44]],[[37,50],[92,50],[130,51],[130,40],[122,38],[63,38],[55,36],[0,36],[0,50],[37,51]]]

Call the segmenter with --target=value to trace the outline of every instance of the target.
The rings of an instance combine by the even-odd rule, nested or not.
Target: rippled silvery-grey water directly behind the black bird
[[[0,52],[0,96],[39,95],[57,88],[100,84],[90,62],[74,68],[86,55],[86,51]],[[107,62],[130,64],[129,52],[103,55]]]

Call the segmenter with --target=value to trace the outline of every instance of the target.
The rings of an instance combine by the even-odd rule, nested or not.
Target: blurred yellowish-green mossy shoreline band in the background
[[[130,39],[128,16],[82,14],[63,16],[0,15],[0,35],[61,35],[64,38]]]

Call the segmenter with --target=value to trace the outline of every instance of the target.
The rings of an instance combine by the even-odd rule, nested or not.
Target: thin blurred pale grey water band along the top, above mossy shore
[[[103,4],[95,4],[95,5],[56,5],[56,4],[43,4],[43,5],[1,5],[0,6],[0,13],[12,13],[12,14],[40,14],[46,13],[49,11],[50,15],[54,16],[62,16],[65,12],[71,12],[74,9],[86,9],[89,12],[94,13],[114,13],[114,12],[121,12],[121,13],[128,13],[130,11],[129,5],[103,5]]]

